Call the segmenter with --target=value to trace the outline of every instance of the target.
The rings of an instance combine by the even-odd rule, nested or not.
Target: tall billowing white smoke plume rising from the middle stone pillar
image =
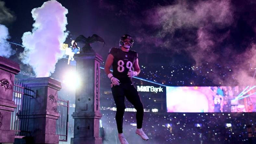
[[[31,11],[35,21],[32,32],[22,36],[24,52],[20,59],[31,65],[36,77],[49,77],[55,71],[55,64],[63,56],[61,44],[66,40],[68,9],[56,0],[45,2]]]

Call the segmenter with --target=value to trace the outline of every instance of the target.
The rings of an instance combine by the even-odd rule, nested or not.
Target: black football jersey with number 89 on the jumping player
[[[113,76],[120,80],[120,82],[125,82],[131,80],[128,77],[129,70],[133,70],[133,64],[138,58],[138,54],[135,51],[129,50],[129,52],[124,52],[120,48],[111,48],[109,54],[114,56],[113,61]]]

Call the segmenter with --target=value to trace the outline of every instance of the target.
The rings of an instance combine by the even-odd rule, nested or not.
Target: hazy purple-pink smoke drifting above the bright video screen
[[[244,7],[241,8],[246,11]],[[256,51],[253,41],[255,38],[250,38],[252,39],[251,45],[243,48],[246,51],[242,53],[234,51],[235,45],[232,43],[223,45],[225,42],[233,42],[230,29],[236,28],[236,13],[237,10],[230,0],[198,2],[179,0],[169,6],[158,6],[145,11],[144,21],[139,24],[137,21],[134,23],[136,25],[145,24],[157,31],[155,35],[143,35],[143,39],[162,39],[160,47],[172,52],[179,53],[180,50],[185,50],[195,60],[195,66],[202,66],[206,63],[208,69],[216,66],[217,63],[229,66],[232,69],[232,77],[236,79],[237,83],[227,82],[225,79],[226,83],[231,85],[255,84],[255,78],[252,78],[256,68]],[[250,16],[248,17],[250,20]],[[223,29],[228,30],[219,32]],[[181,37],[175,35],[177,31],[182,31]],[[137,35],[141,35],[141,33],[139,32]],[[186,39],[188,41],[185,41]],[[155,42],[148,41],[146,44],[155,44]],[[207,77],[211,78],[215,84],[223,84],[224,78],[220,73],[222,73],[221,69]],[[198,75],[202,75],[202,73],[198,73]]]

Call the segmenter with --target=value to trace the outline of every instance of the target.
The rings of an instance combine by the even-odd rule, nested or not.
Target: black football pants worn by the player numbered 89
[[[113,86],[111,90],[116,104],[116,124],[118,133],[123,133],[124,97],[126,97],[136,109],[137,128],[142,128],[144,108],[133,82],[121,82],[120,85]]]

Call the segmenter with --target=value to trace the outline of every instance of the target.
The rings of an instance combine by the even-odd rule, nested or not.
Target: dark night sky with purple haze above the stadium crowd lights
[[[22,43],[24,32],[34,23],[31,10],[42,0],[6,0],[5,6],[16,19],[5,24],[9,41]],[[216,63],[251,71],[256,67],[256,1],[106,1],[58,0],[68,9],[65,43],[80,34],[101,36],[107,46],[94,44],[106,59],[110,47],[118,47],[120,36],[128,33],[135,42],[140,65],[208,65]],[[16,48],[12,45],[12,48]],[[23,48],[18,46],[18,51]],[[11,58],[14,59],[14,56]],[[234,76],[238,73],[234,73]],[[248,74],[251,76],[251,74]],[[247,78],[247,77],[246,77]]]

